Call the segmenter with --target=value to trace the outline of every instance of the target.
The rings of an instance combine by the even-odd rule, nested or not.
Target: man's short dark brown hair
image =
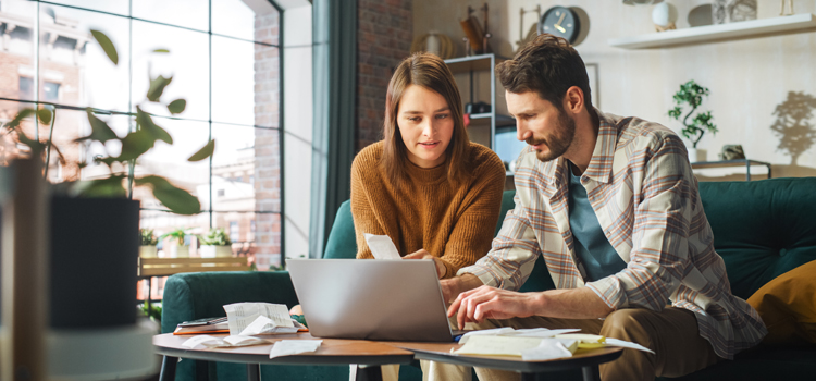
[[[502,85],[510,93],[535,91],[562,110],[564,96],[572,86],[583,91],[583,102],[590,114],[592,97],[586,66],[576,49],[560,37],[542,34],[526,45],[512,60],[496,65]]]

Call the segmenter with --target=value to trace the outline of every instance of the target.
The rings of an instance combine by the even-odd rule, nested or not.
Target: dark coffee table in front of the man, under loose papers
[[[535,380],[535,374],[581,368],[584,381],[598,381],[601,374],[598,366],[620,357],[623,348],[605,347],[590,351],[579,351],[572,357],[544,361],[524,361],[518,357],[508,356],[472,356],[457,355],[452,351],[461,345],[455,343],[391,343],[403,349],[413,352],[413,357],[454,365],[478,368],[491,368],[521,372],[522,380]]]

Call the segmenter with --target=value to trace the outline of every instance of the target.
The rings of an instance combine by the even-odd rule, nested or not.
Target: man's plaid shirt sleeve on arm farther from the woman
[[[633,153],[638,156],[641,153]],[[588,283],[614,309],[659,311],[680,286],[689,261],[689,232],[697,197],[685,146],[675,135],[644,148],[635,186],[632,250],[627,268]]]

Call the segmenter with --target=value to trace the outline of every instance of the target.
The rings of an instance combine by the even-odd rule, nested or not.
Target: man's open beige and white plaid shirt
[[[731,294],[683,143],[659,124],[596,112],[598,137],[581,184],[627,267],[586,282],[569,228],[567,160],[541,162],[527,147],[516,165],[516,208],[491,251],[458,274],[518,290],[544,256],[556,287],[585,285],[610,308],[659,311],[670,300],[695,312],[700,335],[722,358],[756,345],[767,330],[756,310]]]

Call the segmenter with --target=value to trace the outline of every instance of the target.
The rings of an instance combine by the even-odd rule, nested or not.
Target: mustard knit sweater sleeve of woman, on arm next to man
[[[491,248],[506,174],[495,152],[487,150],[481,160],[472,174],[475,180],[468,184],[470,189],[441,257],[447,268],[444,278],[455,276],[460,268],[475,263]]]

